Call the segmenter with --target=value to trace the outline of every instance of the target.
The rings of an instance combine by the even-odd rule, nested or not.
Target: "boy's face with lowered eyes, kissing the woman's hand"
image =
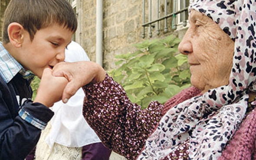
[[[64,61],[65,48],[71,42],[72,34],[66,27],[55,24],[39,29],[31,42],[29,33],[24,31],[21,52],[16,59],[41,78],[45,68],[53,68]]]

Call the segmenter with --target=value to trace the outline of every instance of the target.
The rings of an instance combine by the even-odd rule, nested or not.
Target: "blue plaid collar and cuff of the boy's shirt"
[[[34,74],[30,71],[26,71],[19,62],[17,62],[10,53],[3,47],[3,43],[0,42],[0,76],[3,77],[3,80],[6,83],[9,83],[13,77],[20,73],[23,75],[23,78],[26,80],[32,80]],[[29,114],[25,109],[21,108],[19,115],[26,122],[36,126],[39,129],[44,129],[47,123],[40,121],[37,118],[34,118]]]

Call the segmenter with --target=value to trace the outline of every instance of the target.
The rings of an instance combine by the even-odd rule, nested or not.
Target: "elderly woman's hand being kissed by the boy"
[[[53,76],[66,77],[69,81],[62,95],[62,101],[66,103],[80,87],[104,80],[105,70],[91,61],[60,62],[53,67]]]

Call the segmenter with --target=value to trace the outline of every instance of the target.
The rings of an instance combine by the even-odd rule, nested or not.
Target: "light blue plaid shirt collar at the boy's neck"
[[[3,77],[6,83],[9,83],[17,73],[23,75],[23,78],[27,80],[32,80],[34,77],[34,74],[26,71],[3,47],[3,43],[0,42],[0,76]]]

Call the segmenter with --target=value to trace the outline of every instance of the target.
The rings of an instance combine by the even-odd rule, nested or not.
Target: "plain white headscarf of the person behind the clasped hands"
[[[67,62],[90,61],[84,49],[76,42],[68,45],[65,56]],[[59,101],[51,107],[54,112],[50,121],[52,128],[45,140],[50,149],[54,143],[68,147],[82,147],[100,142],[82,115],[84,97],[85,93],[80,88],[66,104]]]

